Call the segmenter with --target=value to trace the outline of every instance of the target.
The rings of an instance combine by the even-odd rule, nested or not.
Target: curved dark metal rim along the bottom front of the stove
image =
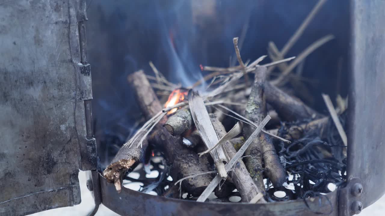
[[[248,203],[198,203],[196,201],[165,198],[122,188],[117,193],[113,184],[99,174],[102,203],[121,215],[338,215],[338,189],[319,198],[271,202],[265,204]],[[321,206],[319,206],[321,204]],[[330,206],[331,204],[331,206]],[[318,214],[316,213],[318,212]]]

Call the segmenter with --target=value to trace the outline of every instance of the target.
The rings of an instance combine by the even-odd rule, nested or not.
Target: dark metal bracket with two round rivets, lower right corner
[[[360,178],[349,179],[348,184],[339,189],[338,212],[340,216],[351,216],[362,211],[362,190]]]

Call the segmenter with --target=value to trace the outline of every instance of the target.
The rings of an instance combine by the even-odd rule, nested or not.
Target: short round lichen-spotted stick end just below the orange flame
[[[172,136],[181,135],[184,131],[191,129],[192,118],[190,110],[177,110],[163,125]]]

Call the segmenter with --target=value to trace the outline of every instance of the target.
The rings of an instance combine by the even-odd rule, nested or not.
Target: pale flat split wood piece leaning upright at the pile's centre
[[[198,92],[190,90],[188,93],[189,106],[194,124],[201,135],[201,138],[208,149],[212,148],[218,143],[219,139],[213,128],[213,124],[210,121],[209,113],[206,110],[203,99],[199,96]],[[224,169],[224,161],[228,161],[224,154],[223,147],[217,146],[210,152],[211,157],[214,160],[216,169],[218,170],[221,178],[227,178],[227,172]]]

